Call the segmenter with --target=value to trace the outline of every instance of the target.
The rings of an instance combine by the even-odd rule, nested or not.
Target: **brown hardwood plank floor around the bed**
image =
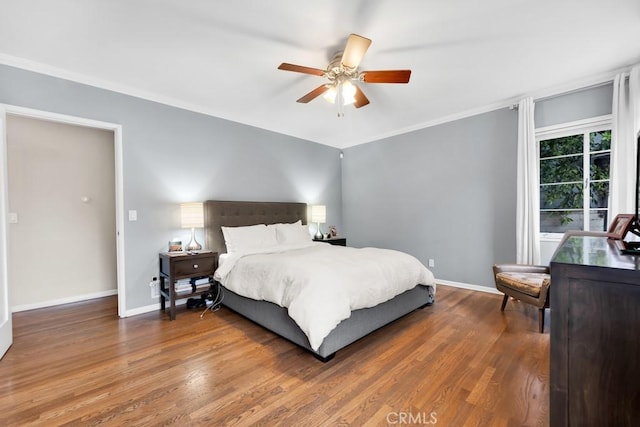
[[[548,425],[537,310],[447,286],[436,300],[326,364],[225,308],[16,313],[0,425]]]

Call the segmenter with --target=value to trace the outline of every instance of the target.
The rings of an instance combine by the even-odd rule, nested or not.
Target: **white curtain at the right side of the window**
[[[613,82],[611,130],[610,219],[634,213],[636,137],[640,130],[640,65],[618,74]]]

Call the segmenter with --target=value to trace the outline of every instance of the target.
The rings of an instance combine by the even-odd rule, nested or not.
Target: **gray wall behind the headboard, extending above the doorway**
[[[124,209],[138,211],[124,224],[128,310],[157,302],[148,286],[157,254],[189,236],[180,202],[323,203],[342,229],[337,149],[4,65],[0,103],[122,125]]]

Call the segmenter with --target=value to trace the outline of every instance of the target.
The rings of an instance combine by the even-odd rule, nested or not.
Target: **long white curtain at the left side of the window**
[[[533,98],[518,104],[518,177],[516,262],[540,264],[539,152],[533,122]]]

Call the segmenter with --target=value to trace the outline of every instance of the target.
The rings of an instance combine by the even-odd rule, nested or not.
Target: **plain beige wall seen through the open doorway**
[[[113,132],[8,115],[7,157],[14,311],[115,292]]]

